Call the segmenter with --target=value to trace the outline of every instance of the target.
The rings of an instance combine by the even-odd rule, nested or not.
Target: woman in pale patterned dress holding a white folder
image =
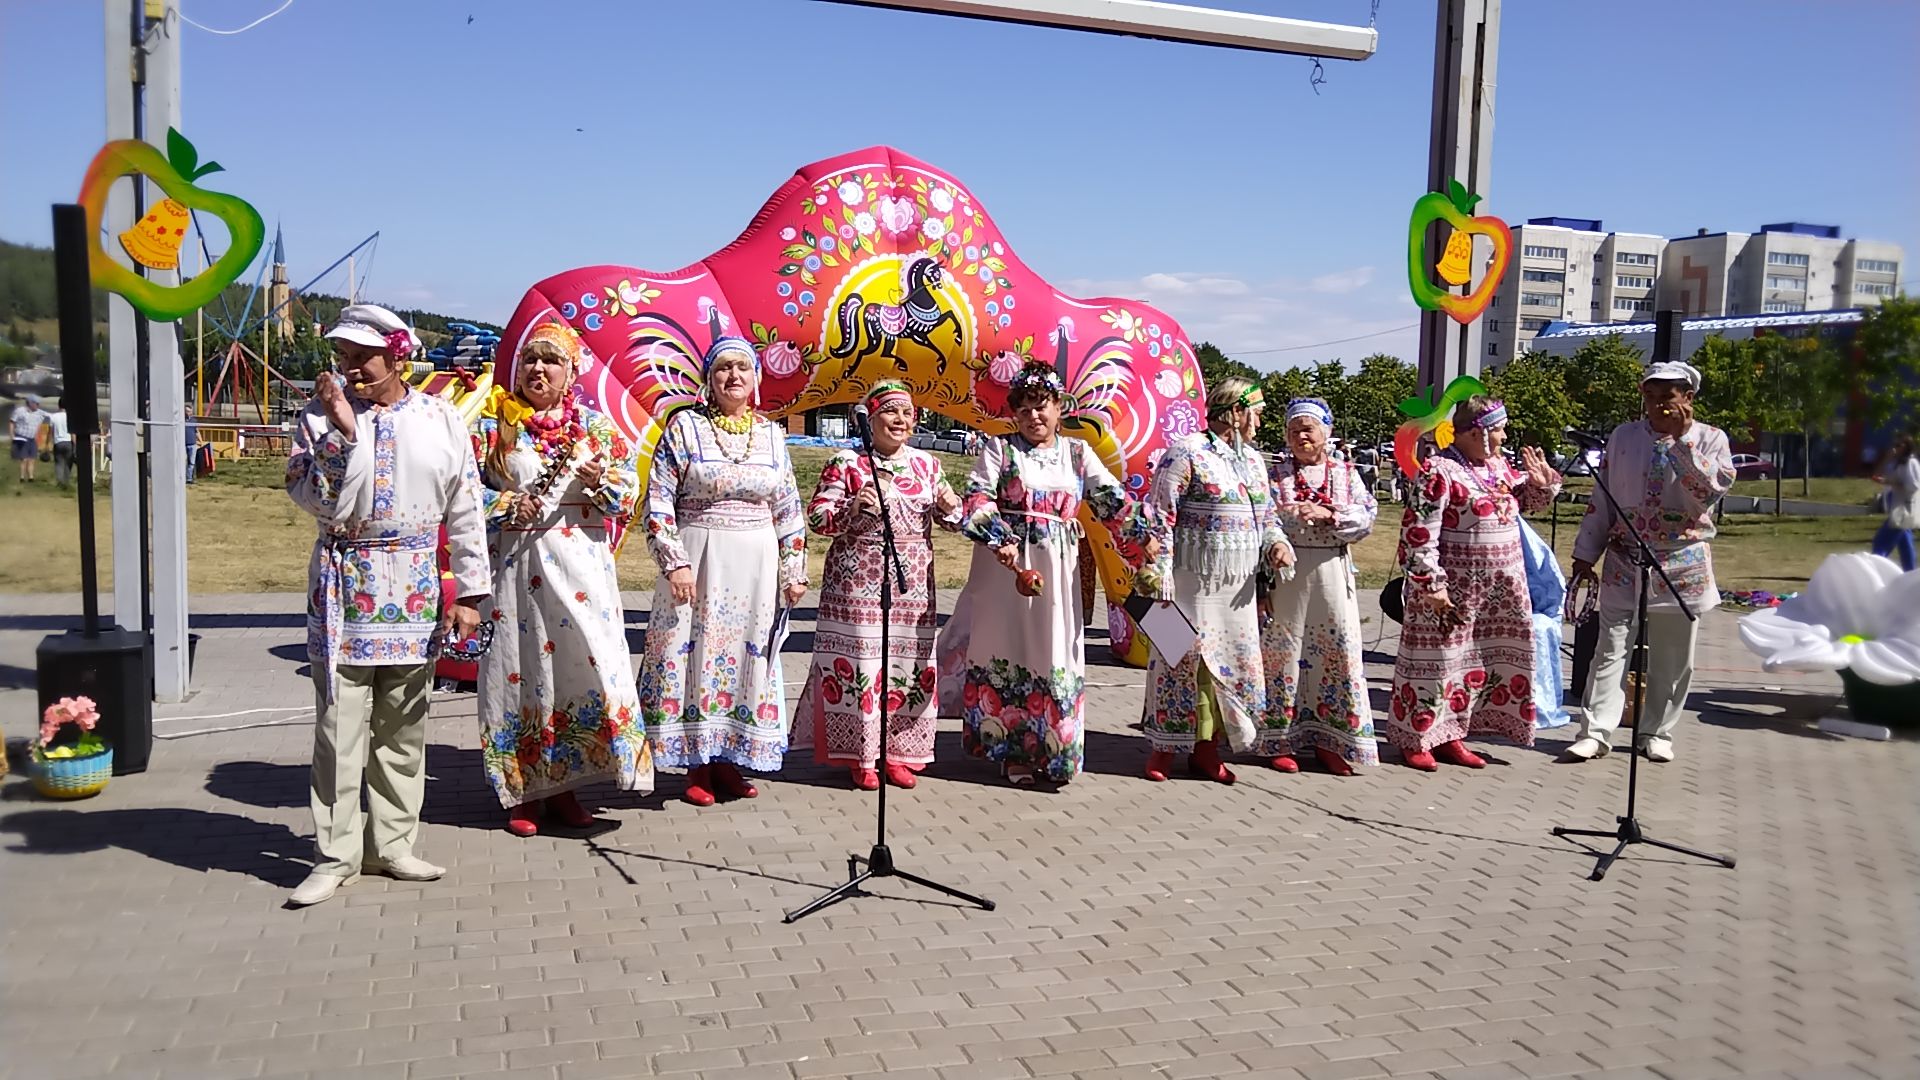
[[[1185,657],[1146,667],[1146,778],[1165,780],[1175,753],[1194,776],[1233,784],[1219,744],[1252,749],[1267,711],[1256,578],[1292,565],[1273,519],[1267,467],[1254,450],[1265,398],[1248,379],[1223,379],[1206,400],[1208,430],[1173,444],[1154,471],[1148,505],[1160,553],[1135,590],[1177,603],[1200,640]]]

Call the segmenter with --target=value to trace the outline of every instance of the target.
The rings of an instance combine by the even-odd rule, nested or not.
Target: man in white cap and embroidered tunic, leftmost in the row
[[[445,872],[413,853],[434,653],[449,636],[472,636],[493,588],[467,425],[401,377],[419,338],[372,304],[346,307],[326,336],[336,373],[319,377],[286,463],[288,494],[319,521],[307,567],[319,857],[288,901],[296,907],[332,897],[361,872]],[[445,611],[442,525],[459,596]]]

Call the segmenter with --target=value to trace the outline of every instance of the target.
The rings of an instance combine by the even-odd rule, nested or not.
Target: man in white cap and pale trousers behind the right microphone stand
[[[1693,419],[1699,371],[1663,361],[1640,380],[1645,415],[1613,429],[1599,479],[1645,536],[1672,578],[1678,600],[1695,615],[1720,603],[1713,580],[1713,507],[1734,486],[1734,455],[1726,432]],[[1613,732],[1626,709],[1626,667],[1634,648],[1640,567],[1626,525],[1605,496],[1594,492],[1572,542],[1572,578],[1594,586],[1594,565],[1607,555],[1599,578],[1599,650],[1588,675],[1580,738],[1569,761],[1588,761],[1613,749]],[[1647,673],[1638,746],[1647,761],[1674,759],[1674,726],[1693,684],[1693,644],[1699,625],[1680,611],[1659,573],[1647,594]]]

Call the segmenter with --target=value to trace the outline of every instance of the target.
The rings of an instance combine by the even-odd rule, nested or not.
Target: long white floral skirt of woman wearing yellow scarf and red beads
[[[480,753],[499,805],[612,776],[653,790],[626,609],[599,528],[503,532],[493,644],[480,661]]]

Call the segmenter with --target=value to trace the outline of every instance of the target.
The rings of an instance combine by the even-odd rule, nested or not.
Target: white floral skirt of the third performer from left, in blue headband
[[[639,663],[639,709],[655,761],[778,771],[787,753],[787,701],[774,651],[774,527],[684,525],[680,538],[693,565],[693,601],[676,605],[660,577]]]

